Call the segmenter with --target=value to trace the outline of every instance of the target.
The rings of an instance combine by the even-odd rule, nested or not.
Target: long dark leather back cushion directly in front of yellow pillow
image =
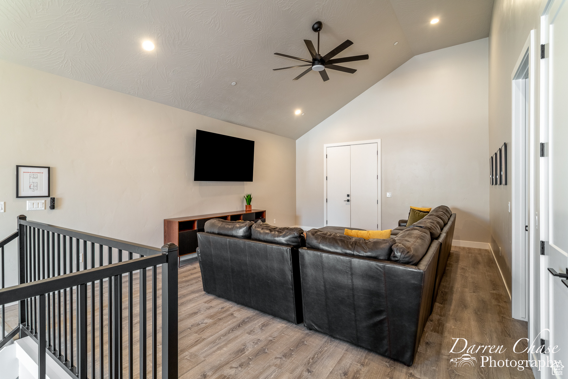
[[[392,238],[365,240],[318,229],[308,230],[306,233],[307,247],[384,260],[391,256],[394,243],[395,240]]]

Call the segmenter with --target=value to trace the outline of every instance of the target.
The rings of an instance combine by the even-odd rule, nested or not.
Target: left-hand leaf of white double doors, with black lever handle
[[[350,146],[328,147],[327,154],[327,224],[351,226]]]

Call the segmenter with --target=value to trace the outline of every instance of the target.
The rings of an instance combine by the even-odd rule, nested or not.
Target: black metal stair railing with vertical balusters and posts
[[[5,288],[4,246],[16,238],[19,285]],[[176,245],[157,249],[18,216],[18,231],[1,241],[0,249],[0,348],[16,334],[34,339],[39,345],[40,379],[45,378],[46,354],[79,379],[157,378],[161,355],[161,377],[177,378]],[[152,271],[150,283],[148,270]],[[12,302],[18,303],[18,326],[6,334],[5,305]],[[157,344],[158,318],[161,347]]]

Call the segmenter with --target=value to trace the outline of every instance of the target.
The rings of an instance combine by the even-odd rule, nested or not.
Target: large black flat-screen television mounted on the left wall
[[[197,131],[194,181],[252,182],[254,141]]]

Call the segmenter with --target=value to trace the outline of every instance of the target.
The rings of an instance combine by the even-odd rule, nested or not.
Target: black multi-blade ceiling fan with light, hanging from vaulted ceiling
[[[327,53],[324,56],[321,56],[319,53],[319,32],[321,30],[321,28],[323,27],[323,23],[321,21],[316,22],[314,25],[312,25],[312,30],[316,33],[318,33],[318,50],[316,51],[316,49],[314,48],[314,44],[312,43],[312,41],[304,39],[304,43],[306,43],[306,47],[308,48],[308,51],[310,52],[310,55],[312,56],[312,60],[308,60],[308,59],[303,59],[303,58],[298,58],[298,57],[293,57],[290,55],[286,55],[286,54],[281,54],[281,53],[274,53],[274,55],[279,55],[282,57],[287,57],[287,58],[291,58],[291,59],[297,59],[299,61],[304,61],[307,62],[309,64],[302,64],[302,65],[298,65],[298,66],[290,66],[290,67],[282,67],[282,68],[275,68],[273,69],[274,71],[277,70],[285,70],[285,69],[289,69],[289,68],[296,68],[296,67],[307,67],[307,66],[311,66],[310,68],[308,68],[306,71],[304,71],[303,73],[299,74],[298,76],[296,76],[293,80],[298,80],[299,78],[303,77],[304,75],[306,75],[308,72],[310,72],[311,70],[314,71],[318,71],[321,75],[321,78],[323,79],[323,81],[328,81],[329,80],[329,76],[327,75],[327,72],[325,72],[325,69],[331,69],[331,70],[337,70],[337,71],[343,71],[343,72],[348,72],[350,74],[353,74],[354,72],[356,72],[356,69],[352,69],[352,68],[348,68],[348,67],[344,67],[344,66],[337,66],[336,63],[345,63],[345,62],[353,62],[353,61],[362,61],[365,59],[369,59],[369,55],[365,54],[365,55],[356,55],[356,56],[352,56],[352,57],[344,57],[344,58],[336,58],[336,59],[332,59],[333,57],[335,57],[337,54],[339,54],[340,52],[344,51],[346,48],[348,48],[350,45],[353,44],[352,41],[350,40],[346,40],[344,43],[340,44],[339,46],[337,46],[335,49],[333,49],[332,51],[330,51],[329,53]]]

